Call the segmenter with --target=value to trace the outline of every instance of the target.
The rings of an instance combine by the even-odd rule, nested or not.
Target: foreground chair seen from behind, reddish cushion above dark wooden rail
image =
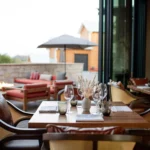
[[[136,144],[143,144],[142,136],[135,136],[131,131],[132,135],[129,135],[129,131],[126,135],[124,133],[120,127],[77,128],[48,125],[47,133],[43,134],[42,150],[131,150]],[[149,148],[148,145],[145,147]]]

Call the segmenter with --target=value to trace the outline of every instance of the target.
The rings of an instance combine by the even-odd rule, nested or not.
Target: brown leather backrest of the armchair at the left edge
[[[10,125],[13,125],[13,119],[8,104],[2,97],[0,98],[0,119]]]

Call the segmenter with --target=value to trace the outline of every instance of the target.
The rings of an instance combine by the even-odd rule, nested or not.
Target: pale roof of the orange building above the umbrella
[[[89,32],[99,32],[99,24],[97,21],[84,21],[81,24],[81,27],[79,29],[79,33],[81,32],[83,26],[89,31]]]

